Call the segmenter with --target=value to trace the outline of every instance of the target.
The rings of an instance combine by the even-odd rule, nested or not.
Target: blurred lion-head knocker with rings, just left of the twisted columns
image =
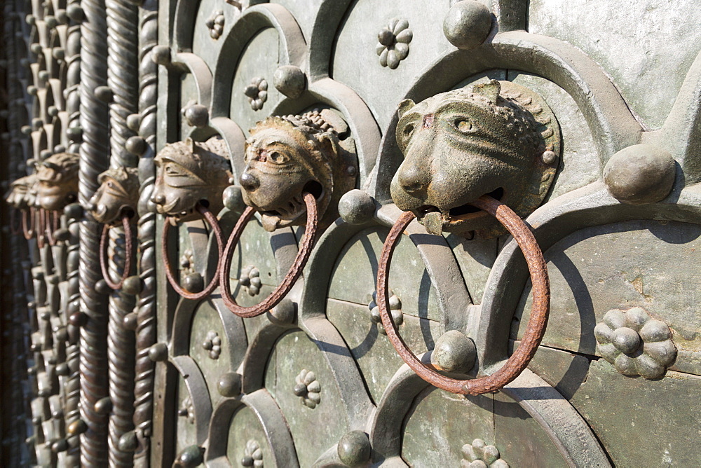
[[[78,200],[79,156],[56,153],[37,165],[36,205],[39,205],[39,233],[36,239],[43,245],[46,235],[49,245],[55,245],[55,231],[64,207]]]

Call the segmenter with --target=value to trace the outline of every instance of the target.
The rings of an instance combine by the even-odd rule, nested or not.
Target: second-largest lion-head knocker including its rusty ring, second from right
[[[300,116],[268,117],[250,130],[245,147],[246,166],[240,176],[243,200],[248,207],[226,243],[219,270],[222,298],[236,315],[255,317],[275,307],[304,269],[318,229],[338,218],[339,199],[355,188],[358,173],[355,151],[344,141],[345,135],[346,122],[327,109]],[[268,231],[306,227],[290,272],[264,301],[243,308],[229,291],[229,270],[233,250],[254,212],[259,212]]]

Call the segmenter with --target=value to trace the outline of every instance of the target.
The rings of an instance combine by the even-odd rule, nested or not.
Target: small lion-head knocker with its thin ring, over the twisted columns
[[[139,171],[135,167],[110,167],[97,177],[100,188],[88,202],[88,211],[98,223],[103,223],[100,238],[100,268],[102,277],[111,289],[121,289],[129,276],[133,252],[131,224],[137,221],[136,206],[139,202]],[[106,262],[109,229],[124,228],[124,270],[118,282],[113,282]]]

